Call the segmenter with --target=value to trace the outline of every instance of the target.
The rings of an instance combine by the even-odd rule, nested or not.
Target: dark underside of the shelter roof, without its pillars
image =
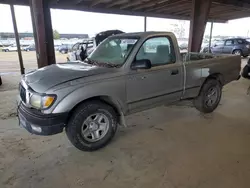
[[[51,8],[89,12],[190,19],[192,0],[48,0]],[[29,0],[0,0],[0,3],[29,5]],[[213,0],[209,20],[226,22],[250,16],[248,0]]]

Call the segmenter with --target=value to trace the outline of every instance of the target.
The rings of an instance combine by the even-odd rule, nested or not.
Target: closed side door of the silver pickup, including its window
[[[183,92],[183,66],[176,62],[171,38],[146,40],[135,61],[143,59],[150,60],[152,68],[130,71],[126,83],[130,112],[179,100]]]

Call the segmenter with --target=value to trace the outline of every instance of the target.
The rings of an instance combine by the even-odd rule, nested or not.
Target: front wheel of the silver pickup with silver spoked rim
[[[101,123],[97,123],[100,122],[100,118],[96,114],[99,115],[98,117],[102,115],[101,121],[108,123],[105,130],[94,130],[101,129]],[[103,122],[102,124],[105,124]],[[93,130],[91,130],[91,126]],[[70,142],[79,150],[95,151],[103,148],[112,140],[117,126],[117,114],[111,106],[100,101],[89,101],[81,104],[73,112],[66,126],[66,134]],[[101,135],[100,132],[103,135],[95,140],[94,137],[98,137],[95,135]]]

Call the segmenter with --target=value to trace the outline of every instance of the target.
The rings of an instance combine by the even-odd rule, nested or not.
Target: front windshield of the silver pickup
[[[110,38],[101,43],[88,57],[90,61],[121,66],[135,46],[138,38]]]

